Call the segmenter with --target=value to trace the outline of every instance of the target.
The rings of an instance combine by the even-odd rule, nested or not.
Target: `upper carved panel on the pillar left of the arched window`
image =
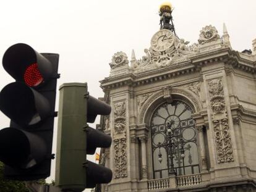
[[[124,133],[126,130],[126,102],[114,104],[114,132]]]

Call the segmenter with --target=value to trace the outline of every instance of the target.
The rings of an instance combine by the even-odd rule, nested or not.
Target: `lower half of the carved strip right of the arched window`
[[[213,120],[214,140],[216,144],[217,162],[234,161],[228,119]]]

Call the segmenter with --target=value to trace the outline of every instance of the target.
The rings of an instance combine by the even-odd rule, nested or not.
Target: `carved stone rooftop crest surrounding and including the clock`
[[[189,41],[177,38],[169,30],[156,32],[151,40],[151,47],[144,49],[145,56],[134,62],[134,72],[142,73],[189,61],[189,56],[198,52],[198,44],[188,44]]]

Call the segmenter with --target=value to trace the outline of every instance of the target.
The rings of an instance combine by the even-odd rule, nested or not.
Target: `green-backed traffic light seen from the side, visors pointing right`
[[[94,154],[96,148],[111,146],[111,136],[87,124],[96,115],[109,115],[111,107],[90,96],[86,83],[64,83],[59,90],[56,186],[82,191],[111,182],[110,169],[87,161],[87,154]]]

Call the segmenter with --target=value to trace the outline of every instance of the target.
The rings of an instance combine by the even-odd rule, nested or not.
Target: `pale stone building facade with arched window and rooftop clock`
[[[109,65],[101,191],[256,191],[256,40],[243,53],[225,25],[190,46],[162,29],[141,59],[116,52]]]

